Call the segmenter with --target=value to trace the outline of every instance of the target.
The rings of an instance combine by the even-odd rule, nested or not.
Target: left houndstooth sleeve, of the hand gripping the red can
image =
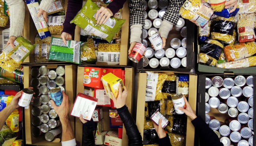
[[[129,0],[130,26],[142,24],[144,26],[144,9],[142,0]]]

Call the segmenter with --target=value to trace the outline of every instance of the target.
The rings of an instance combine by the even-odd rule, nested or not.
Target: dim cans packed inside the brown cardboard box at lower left
[[[35,98],[31,102],[33,106],[31,123],[34,126],[32,135],[37,138],[46,133],[45,139],[53,141],[52,135],[60,134],[60,129],[57,127],[61,122],[59,115],[52,107],[49,90],[59,86],[65,92],[65,69],[63,66],[58,66],[54,70],[49,70],[46,66],[34,67],[30,74],[33,77],[30,85],[34,87],[35,92]]]

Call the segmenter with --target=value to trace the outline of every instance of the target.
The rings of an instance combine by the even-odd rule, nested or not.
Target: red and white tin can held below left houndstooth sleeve
[[[131,54],[129,54],[128,58],[131,61],[138,63],[145,50],[146,50],[146,47],[142,43],[136,43],[136,45],[133,47],[131,51]]]

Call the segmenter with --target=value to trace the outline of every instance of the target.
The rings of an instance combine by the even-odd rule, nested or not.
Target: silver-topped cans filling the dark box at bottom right
[[[253,76],[206,77],[205,99],[206,123],[224,146],[253,146]],[[213,108],[229,118],[222,122],[210,116]]]

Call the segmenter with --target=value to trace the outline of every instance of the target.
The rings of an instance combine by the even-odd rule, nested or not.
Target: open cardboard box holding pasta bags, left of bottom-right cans
[[[161,71],[159,71],[160,73]],[[180,72],[172,72],[172,71],[162,71],[161,73],[166,74],[188,74],[188,73],[180,73]],[[141,72],[139,73],[139,81],[138,81],[138,104],[137,104],[137,117],[136,124],[140,131],[140,134],[143,137],[143,129],[144,129],[144,111],[145,111],[145,97],[146,97],[146,84],[147,84],[147,73]],[[197,76],[195,74],[189,74],[189,95],[188,95],[188,103],[191,105],[191,108],[194,112],[196,112],[196,91],[197,91]],[[195,139],[195,127],[191,123],[191,119],[188,117],[187,119],[187,136],[186,136],[186,146],[194,146]]]

